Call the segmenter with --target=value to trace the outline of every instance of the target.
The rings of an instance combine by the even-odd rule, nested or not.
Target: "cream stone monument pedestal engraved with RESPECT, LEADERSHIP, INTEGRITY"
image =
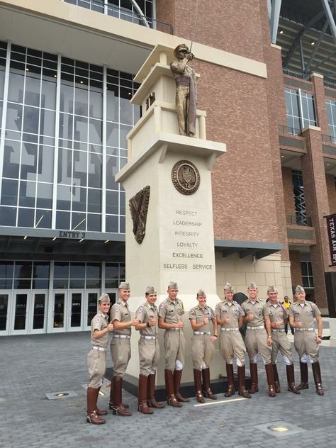
[[[162,60],[164,52],[161,46],[159,48],[159,52],[153,50],[153,53]],[[203,111],[197,111],[196,121],[197,136],[201,132],[203,138],[179,135],[174,79],[169,66],[157,62],[152,67],[153,55],[148,61],[147,70],[146,62],[145,68],[140,69],[145,79],[133,102],[140,102],[142,110],[145,110],[146,99],[153,92],[155,101],[128,135],[128,163],[116,175],[116,180],[125,188],[127,204],[126,281],[131,289],[129,304],[134,313],[140,304],[145,303],[146,286],[152,285],[157,290],[159,306],[167,298],[169,282],[177,282],[178,297],[184,303],[184,335],[187,342],[182,382],[191,383],[194,376],[189,309],[197,305],[198,289],[206,291],[207,303],[211,307],[215,308],[220,301],[216,295],[215,281],[211,168],[216,157],[223,155],[226,148],[223,143],[206,140],[206,113]],[[128,204],[146,186],[150,187],[150,198],[145,237],[139,243],[133,234]],[[140,216],[140,220],[143,222],[145,218]],[[128,364],[128,379],[137,383],[139,334],[134,329],[132,333],[133,356]],[[163,333],[164,330],[160,330],[159,386],[164,384]],[[225,363],[216,353],[211,364],[211,378],[218,379],[224,374]]]

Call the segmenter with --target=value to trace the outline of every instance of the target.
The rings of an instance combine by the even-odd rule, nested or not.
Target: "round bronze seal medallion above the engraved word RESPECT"
[[[198,169],[189,160],[179,160],[174,164],[172,181],[181,194],[194,194],[198,190],[200,180]]]

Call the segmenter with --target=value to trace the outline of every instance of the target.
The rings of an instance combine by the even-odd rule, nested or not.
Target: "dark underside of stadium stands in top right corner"
[[[336,80],[335,0],[269,0],[271,41],[284,69]]]

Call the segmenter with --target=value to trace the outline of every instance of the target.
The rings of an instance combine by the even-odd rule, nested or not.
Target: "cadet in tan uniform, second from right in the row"
[[[279,303],[278,291],[275,286],[269,286],[267,288],[267,296],[269,296],[267,307],[269,308],[269,320],[271,320],[271,334],[273,340],[273,344],[271,345],[271,366],[273,367],[275,391],[276,393],[281,392],[278,369],[276,369],[276,357],[280,350],[286,364],[289,391],[300,393],[295,386],[293,353],[291,351],[291,342],[289,342],[285,330],[285,323],[288,318],[287,310],[281,303]]]

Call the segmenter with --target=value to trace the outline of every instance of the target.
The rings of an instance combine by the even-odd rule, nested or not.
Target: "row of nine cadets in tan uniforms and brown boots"
[[[94,425],[105,423],[102,418],[106,410],[97,408],[97,398],[106,371],[106,351],[109,333],[111,339],[111,357],[113,361],[113,379],[109,408],[113,414],[123,417],[132,415],[128,404],[122,402],[122,381],[130,360],[131,327],[140,332],[138,342],[140,374],[138,386],[138,410],[144,414],[152,414],[152,408],[164,408],[155,399],[155,376],[159,362],[159,328],[164,329],[164,380],[168,405],[180,408],[181,403],[189,402],[189,398],[181,395],[179,388],[184,367],[186,340],[184,337],[184,306],[177,298],[177,283],[170,282],[168,297],[159,308],[155,305],[157,291],[147,286],[146,302],[136,310],[135,318],[131,318],[128,307],[130,286],[122,282],[118,289],[118,301],[111,307],[108,294],[99,298],[98,313],[91,320],[91,351],[87,362],[89,367],[89,386],[87,388],[86,420]],[[225,284],[224,300],[215,306],[215,310],[207,305],[206,293],[203,289],[197,292],[198,304],[189,311],[189,321],[194,335],[191,342],[191,357],[194,366],[194,383],[196,400],[204,403],[204,398],[216,400],[211,391],[210,364],[215,354],[214,342],[220,341],[220,354],[225,360],[228,376],[228,388],[225,397],[233,396],[233,359],[237,363],[237,389],[240,396],[251,398],[258,391],[257,355],[264,362],[269,396],[275,397],[281,391],[276,358],[280,351],[286,364],[288,390],[299,394],[308,388],[308,363],[312,364],[315,388],[322,396],[320,364],[318,349],[322,342],[323,320],[315,303],[306,301],[306,293],[302,286],[296,286],[296,302],[286,308],[278,300],[275,286],[267,289],[268,301],[258,298],[257,285],[251,283],[247,288],[248,298],[240,306],[233,301],[233,286]],[[110,312],[110,313],[109,313]],[[291,343],[286,335],[285,325],[294,330],[294,347],[300,359],[301,382],[294,381],[293,354]],[[314,329],[317,322],[317,335]],[[245,340],[240,327],[246,324]],[[220,334],[218,335],[218,330]],[[250,359],[251,385],[245,388],[245,354]]]

